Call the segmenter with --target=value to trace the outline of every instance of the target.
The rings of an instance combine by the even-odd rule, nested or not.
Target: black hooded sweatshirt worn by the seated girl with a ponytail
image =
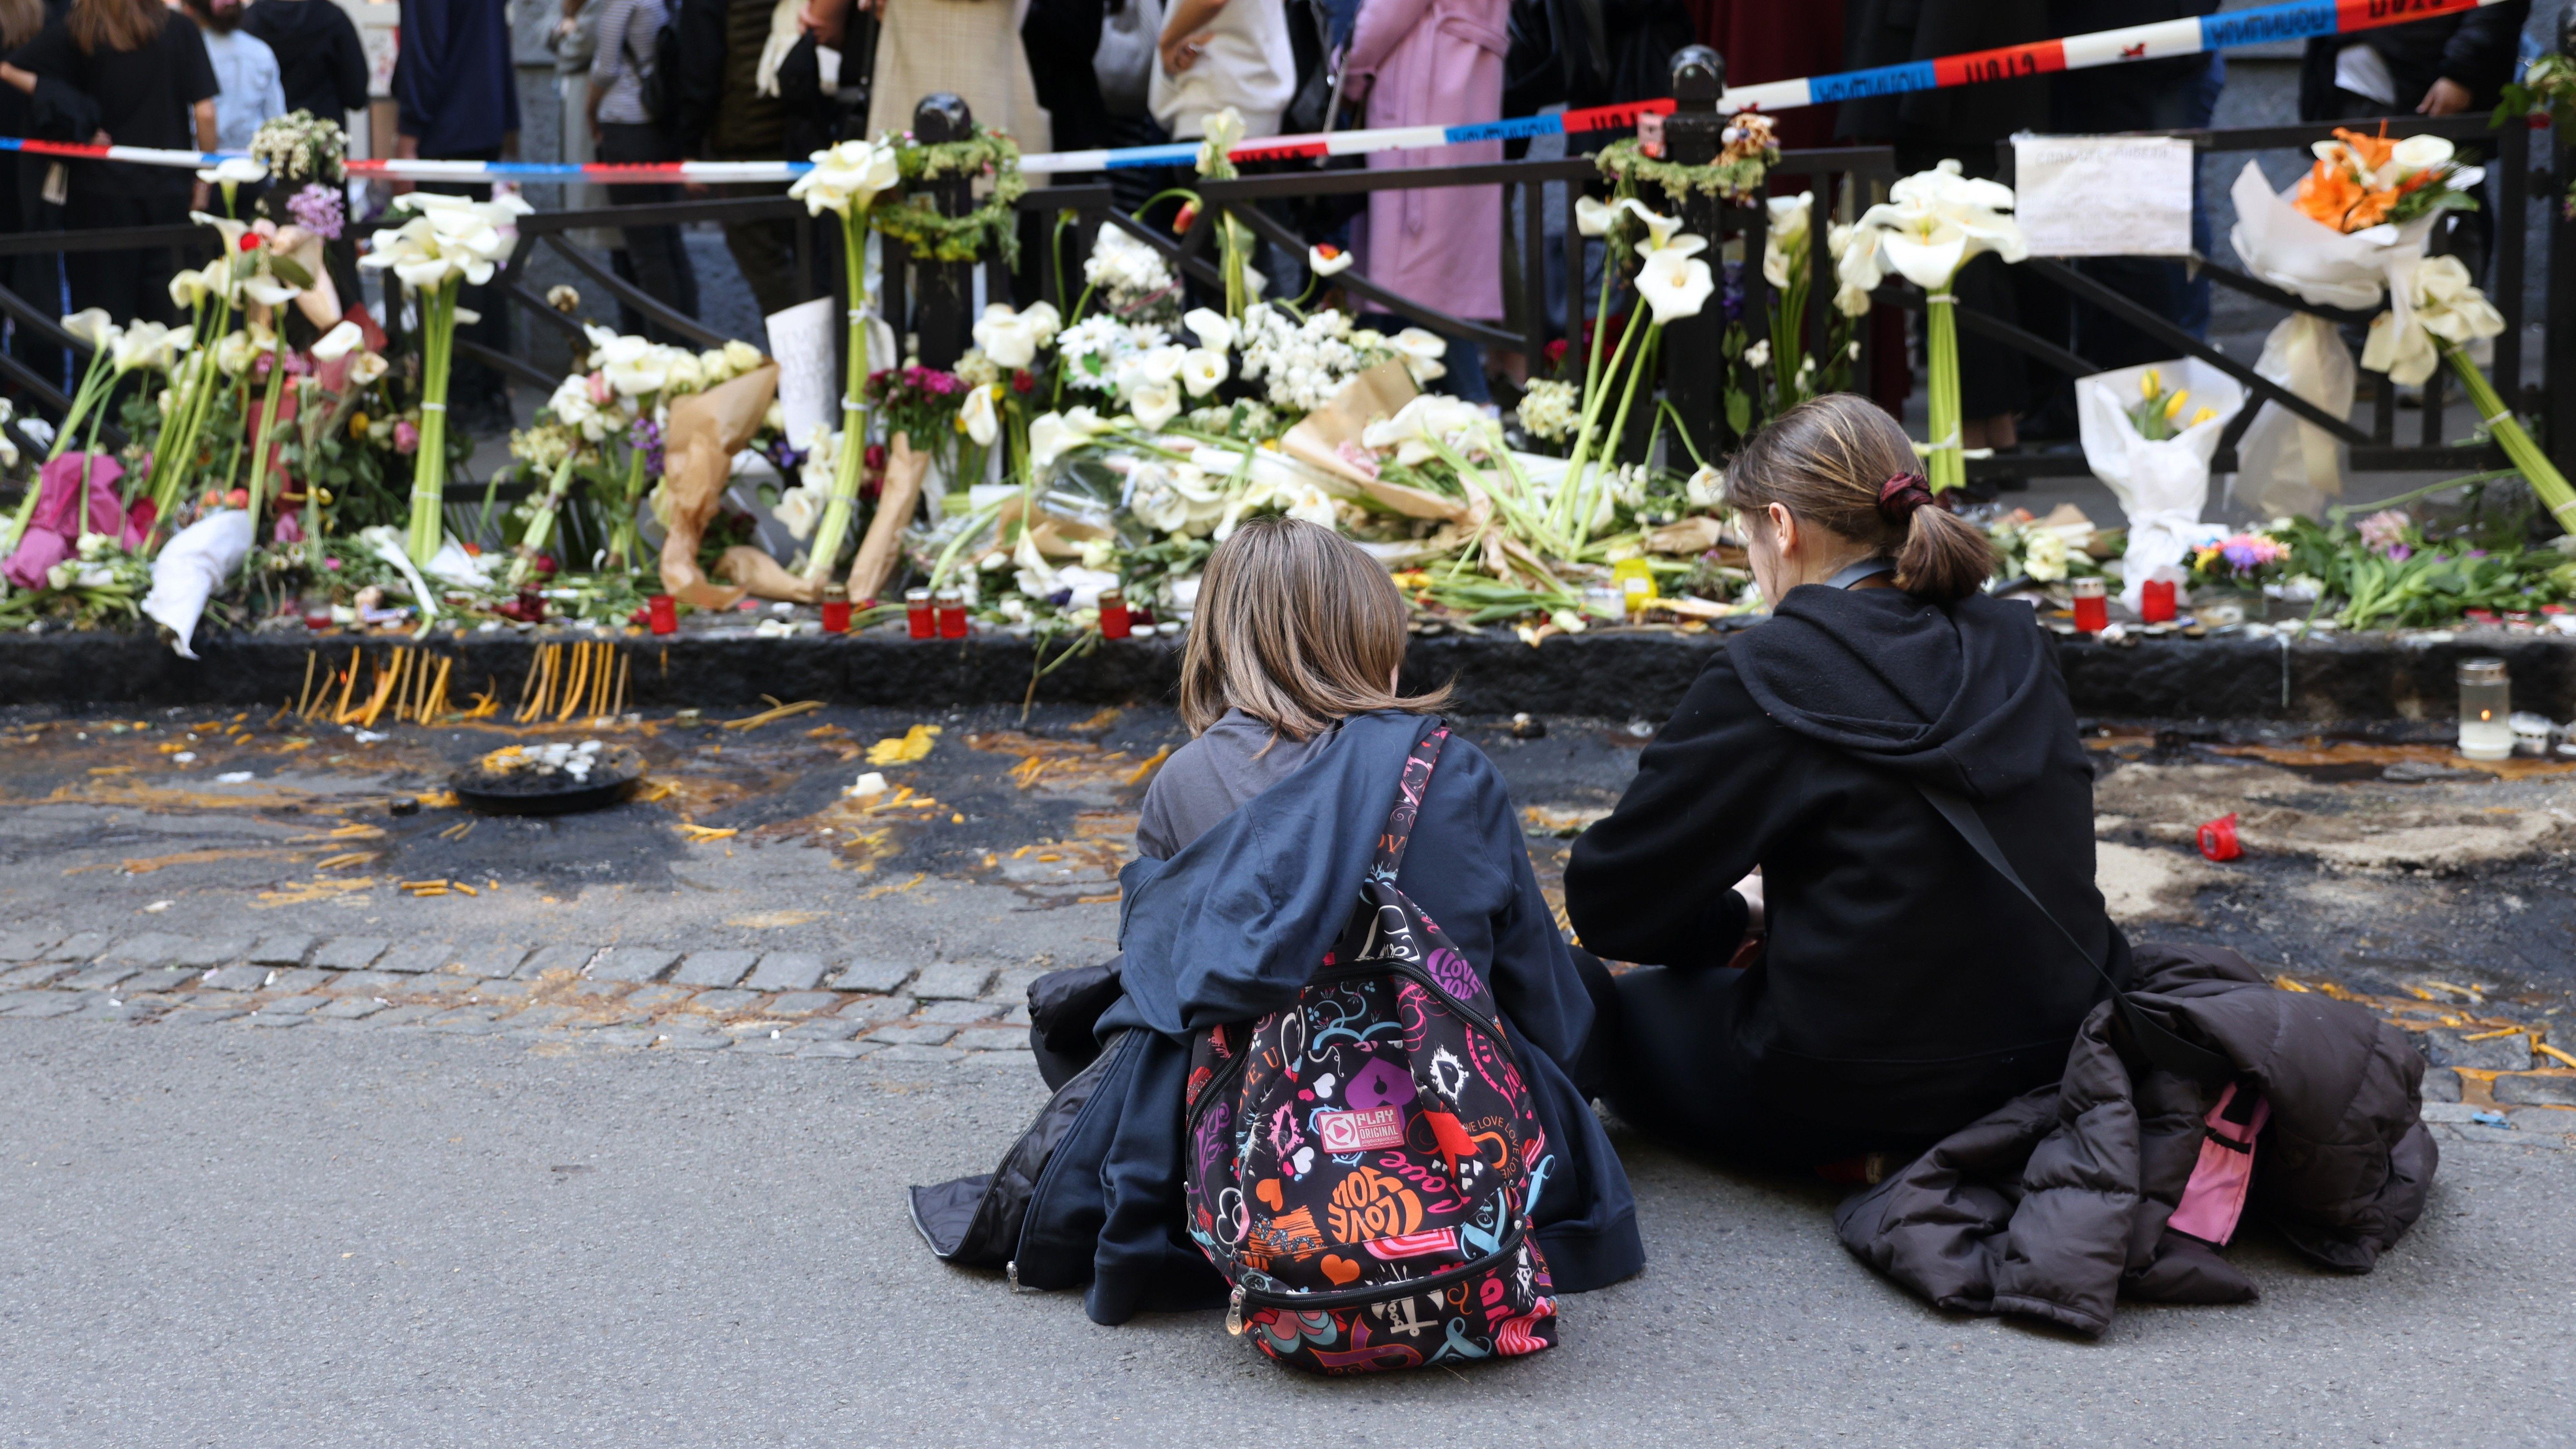
[[[1762,867],[1767,942],[1728,1053],[1765,1109],[1937,1138],[2056,1081],[2102,981],[1914,788],[1976,803],[2115,978],[2092,764],[2027,605],[1801,587],[1728,641],[1574,844],[1566,911],[1615,960],[1721,968]]]

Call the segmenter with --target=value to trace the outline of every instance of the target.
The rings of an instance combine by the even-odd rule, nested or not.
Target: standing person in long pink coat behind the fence
[[[1365,0],[1345,62],[1370,77],[1370,126],[1461,126],[1502,118],[1510,0]],[[1373,167],[1499,162],[1502,142],[1376,152]],[[1368,281],[1468,322],[1502,319],[1502,188],[1378,190],[1360,245]],[[1450,373],[1476,365],[1450,342]],[[1458,378],[1461,383],[1481,381]]]

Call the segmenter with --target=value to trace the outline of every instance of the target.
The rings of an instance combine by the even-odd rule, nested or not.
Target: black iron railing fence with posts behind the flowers
[[[1723,64],[1713,51],[1690,46],[1677,57],[1677,111],[1667,118],[1667,142],[1674,160],[1705,162],[1716,157],[1718,126],[1723,124],[1716,113],[1721,90]],[[914,134],[925,139],[963,134],[963,126],[966,111],[948,95],[925,100],[914,113]],[[2434,134],[2460,144],[2476,144],[2481,149],[2494,147],[2488,160],[2488,188],[2499,211],[2499,224],[2494,226],[2494,255],[2488,257],[2483,283],[2506,319],[2506,332],[2496,345],[2494,381],[2499,394],[2517,412],[2537,417],[2543,445],[2553,453],[2553,458],[2558,458],[2561,468],[2576,471],[2576,327],[2545,329],[2540,376],[2524,376],[2522,355],[2524,273],[2530,265],[2530,257],[2524,255],[2524,208],[2535,196],[2535,188],[2550,198],[2566,190],[2568,180],[2576,178],[2576,149],[2553,147],[2548,167],[2535,167],[2530,157],[2532,142],[2524,131],[2491,131],[2478,116],[2393,116],[2385,126],[2391,136]],[[2331,126],[2313,124],[2154,134],[2187,139],[2202,154],[2223,154],[2306,149],[2308,142],[2324,139],[2329,131]],[[2009,180],[2009,147],[2004,147],[2002,165],[2004,178]],[[1829,255],[1826,221],[1834,214],[1844,221],[1852,219],[1860,208],[1883,198],[1886,185],[1893,180],[1896,160],[1886,147],[1785,152],[1780,165],[1772,167],[1775,193],[1798,188],[1816,196],[1814,224],[1808,226],[1808,275],[1816,278],[1814,301],[1806,311],[1806,340],[1811,355],[1824,353],[1824,332],[1829,327],[1829,306],[1824,299],[1832,291],[1829,278],[1834,275],[1834,260]],[[1082,257],[1090,255],[1103,226],[1118,226],[1139,242],[1154,247],[1188,283],[1213,288],[1221,286],[1213,257],[1218,216],[1239,219],[1262,242],[1303,252],[1306,237],[1296,234],[1273,211],[1280,201],[1347,198],[1378,190],[1461,185],[1504,188],[1504,216],[1510,219],[1507,232],[1512,232],[1510,239],[1515,260],[1515,270],[1507,278],[1512,296],[1510,322],[1448,317],[1373,283],[1358,268],[1340,273],[1334,286],[1370,309],[1391,311],[1448,337],[1522,353],[1535,365],[1551,340],[1564,332],[1574,332],[1577,337],[1582,335],[1584,304],[1589,301],[1584,278],[1587,270],[1589,275],[1597,275],[1597,268],[1602,265],[1597,255],[1587,255],[1595,242],[1582,237],[1571,216],[1574,198],[1582,196],[1587,185],[1600,188],[1600,172],[1592,157],[1376,170],[1309,170],[1288,165],[1265,175],[1242,175],[1231,180],[1198,178],[1190,180],[1190,188],[1198,193],[1200,208],[1190,226],[1180,234],[1121,214],[1113,201],[1113,188],[1105,183],[1041,185],[1030,188],[1018,203],[1020,211],[1033,219],[1023,234],[1038,242],[1041,252],[1036,257],[1023,257],[1018,270],[1007,268],[999,257],[987,257],[981,263],[917,260],[907,255],[902,242],[884,237],[884,283],[876,304],[884,317],[894,322],[896,332],[912,340],[912,347],[925,365],[951,365],[971,345],[976,268],[984,270],[981,291],[987,299],[1018,304],[1046,299],[1064,309],[1064,278],[1079,275]],[[961,214],[974,203],[966,180],[935,183],[935,190],[938,203],[951,214]],[[1059,226],[1054,224],[1056,219],[1069,221],[1064,234],[1059,234]],[[832,255],[840,247],[837,226],[817,224],[801,203],[786,198],[783,193],[523,216],[518,252],[495,278],[495,288],[515,304],[513,311],[531,319],[526,327],[556,327],[567,332],[567,337],[577,335],[580,322],[549,306],[528,281],[531,263],[541,255],[551,255],[580,273],[585,283],[634,309],[665,335],[708,347],[721,345],[726,340],[724,335],[657,301],[644,288],[616,275],[616,270],[572,242],[574,232],[598,226],[685,226],[698,221],[791,221],[804,296],[827,296],[840,291],[842,268]],[[1767,245],[1765,206],[1759,206],[1759,201],[1723,203],[1718,198],[1692,198],[1685,203],[1685,226],[1710,239],[1713,263],[1718,257],[1739,260],[1739,265],[1731,268],[1734,283],[1741,286],[1741,301],[1734,322],[1739,322],[1749,337],[1767,337],[1775,299],[1762,281],[1762,255]],[[0,255],[204,247],[211,237],[214,232],[198,226],[21,234],[0,237]],[[1561,237],[1561,245],[1551,247],[1546,245],[1546,237]],[[1494,239],[1494,245],[1499,247],[1504,239]],[[2205,340],[2192,337],[2174,319],[2156,314],[2154,309],[2123,296],[2063,260],[2030,257],[2020,265],[2025,275],[2035,275],[2056,288],[2063,288],[2071,299],[2089,304],[2102,314],[2125,322],[2136,332],[2166,345],[2172,355],[2197,358],[2228,373],[2246,389],[2249,407],[2228,422],[2221,440],[2215,461],[2215,471],[2221,474],[2233,471],[2236,443],[2264,407],[2287,409],[2303,422],[2311,422],[2344,443],[2349,448],[2352,468],[2357,471],[2473,471],[2501,461],[2501,453],[2494,445],[2460,445],[2442,435],[2442,373],[2434,373],[2434,378],[2424,386],[2427,396],[2421,427],[2416,438],[2409,440],[2398,432],[2396,389],[2378,386],[2367,422],[2354,425],[2347,417],[2334,417],[2308,399],[2295,396],[2280,383],[2259,376],[2251,363],[2231,358]],[[2306,311],[2336,324],[2367,324],[2370,319],[2367,311],[2339,311],[2306,304],[2269,283],[2208,257],[2197,257],[2195,265],[2200,268],[2200,275],[2208,275],[2213,283],[2282,311]],[[1551,278],[1551,270],[1556,278]],[[1551,286],[1551,281],[1556,286]],[[2545,283],[2545,317],[2576,317],[2576,221],[2571,221],[2555,203],[2550,206],[2548,224]],[[1561,317],[1551,317],[1551,293],[1564,299]],[[1878,306],[1909,311],[1922,311],[1924,306],[1924,296],[1909,286],[1880,286],[1873,296]],[[381,311],[389,327],[399,327],[399,306],[386,306]],[[33,306],[5,288],[0,288],[0,317],[5,317],[23,335],[64,347],[75,358],[85,355],[85,347],[77,340],[62,335],[49,309]],[[1728,386],[1741,386],[1741,376],[1728,378],[1728,368],[1739,368],[1741,363],[1728,360],[1726,350],[1718,345],[1718,335],[1726,324],[1728,319],[1710,306],[1698,319],[1672,324],[1664,342],[1662,381],[1667,399],[1703,453],[1731,443],[1723,394]],[[2035,358],[2045,368],[2066,373],[2069,378],[2105,371],[2058,340],[2040,337],[1965,306],[1958,311],[1958,324],[1965,332],[1989,337],[2014,353]],[[1870,332],[1873,329],[1868,327],[1857,332],[1862,355],[1855,376],[1862,378],[1870,376]],[[551,391],[559,381],[556,373],[549,373],[523,355],[502,353],[469,340],[459,340],[456,353],[533,389]],[[67,407],[62,389],[52,378],[39,376],[8,353],[0,353],[0,378],[21,389],[36,409],[59,414]],[[2553,381],[2558,381],[2558,386],[2553,386]],[[2071,445],[2022,448],[1971,461],[1968,474],[1971,479],[2009,484],[2012,479],[2032,476],[2081,476],[2087,474],[2087,466],[2081,450]],[[479,502],[479,486],[474,489],[474,497]],[[459,502],[464,502],[464,497],[459,497]]]

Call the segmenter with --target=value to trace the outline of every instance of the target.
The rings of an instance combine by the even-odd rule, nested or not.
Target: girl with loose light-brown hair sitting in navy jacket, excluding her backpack
[[[1121,872],[1123,960],[1115,975],[1059,973],[1087,978],[1097,1027],[1051,1022],[1074,986],[1030,991],[1059,1094],[994,1179],[914,1189],[914,1220],[943,1259],[1007,1259],[1020,1287],[1087,1282],[1097,1323],[1224,1305],[1182,1215],[1188,1042],[1296,1001],[1350,921],[1406,757],[1448,697],[1401,692],[1404,643],[1386,569],[1329,528],[1252,520],[1218,543],[1180,674],[1195,739],[1146,790],[1141,860]],[[1628,1176],[1574,1086],[1592,1001],[1502,772],[1466,739],[1445,741],[1422,788],[1396,888],[1484,978],[1533,1078],[1553,1153],[1533,1233],[1556,1292],[1636,1274]],[[1066,1037],[1084,1048],[1074,1060],[1043,1050]],[[1025,1220],[1010,1223],[1018,1207],[997,1194],[1025,1202]]]

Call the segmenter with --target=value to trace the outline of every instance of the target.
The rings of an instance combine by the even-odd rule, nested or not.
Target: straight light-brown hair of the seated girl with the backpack
[[[1432,713],[1448,685],[1399,695],[1404,595],[1329,528],[1257,517],[1216,546],[1180,656],[1180,721],[1206,734],[1229,708],[1288,739],[1368,710]]]

